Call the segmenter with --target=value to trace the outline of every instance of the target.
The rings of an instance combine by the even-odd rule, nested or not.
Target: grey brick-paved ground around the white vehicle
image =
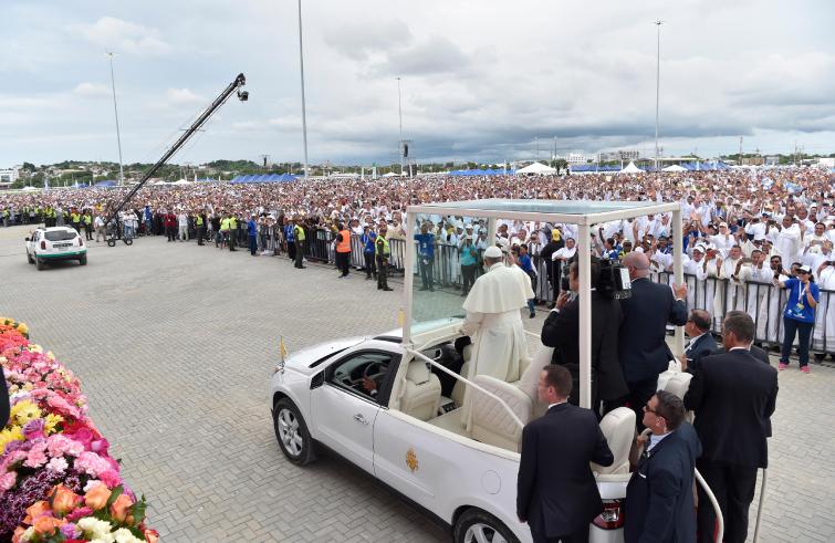
[[[0,228],[0,314],[29,323],[80,375],[163,541],[449,539],[336,458],[290,464],[270,419],[278,336],[293,351],[389,330],[399,285],[382,293],[358,275],[337,281],[327,267],[300,271],[161,238],[94,246],[85,268],[38,272],[24,236]],[[539,330],[542,317],[525,321]],[[763,541],[833,541],[835,369],[792,369],[780,380]]]

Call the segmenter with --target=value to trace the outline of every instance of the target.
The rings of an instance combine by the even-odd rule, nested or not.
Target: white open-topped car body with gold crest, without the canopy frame
[[[470,347],[461,355],[453,346],[460,326],[460,319],[447,319],[417,335],[413,327],[420,352],[404,347],[396,330],[291,355],[271,379],[279,446],[296,464],[327,447],[449,524],[456,543],[530,542],[515,514],[519,449],[522,426],[546,409],[535,398],[535,377],[550,352],[544,359],[537,355],[518,383],[463,379]],[[524,391],[531,375],[534,391]],[[465,387],[471,414],[460,407]],[[615,463],[593,466],[606,509],[591,526],[591,541],[616,542],[623,541],[635,416],[617,409],[602,428]]]

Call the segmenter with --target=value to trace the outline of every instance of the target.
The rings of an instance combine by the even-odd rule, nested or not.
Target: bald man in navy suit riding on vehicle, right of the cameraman
[[[619,358],[629,387],[627,400],[643,429],[640,410],[656,391],[658,374],[672,358],[666,343],[667,323],[682,326],[687,322],[687,285],[672,285],[670,290],[653,282],[649,260],[640,252],[626,254],[623,264],[629,270],[632,296],[620,301],[624,321],[618,336]]]

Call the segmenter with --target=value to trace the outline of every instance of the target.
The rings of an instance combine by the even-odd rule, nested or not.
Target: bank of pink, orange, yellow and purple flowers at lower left
[[[145,498],[122,480],[81,383],[28,334],[25,324],[0,317],[11,404],[0,430],[0,541],[155,543]]]

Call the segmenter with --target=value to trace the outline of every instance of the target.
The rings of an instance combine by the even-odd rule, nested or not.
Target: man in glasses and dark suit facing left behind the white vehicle
[[[624,541],[696,542],[693,468],[701,443],[685,419],[685,404],[659,390],[644,406],[651,430],[626,487]]]

